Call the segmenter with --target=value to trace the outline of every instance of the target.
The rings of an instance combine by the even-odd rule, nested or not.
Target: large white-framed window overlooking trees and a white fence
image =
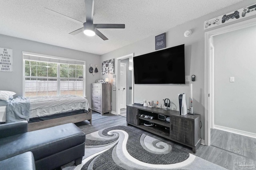
[[[85,62],[23,53],[24,95],[85,96]]]

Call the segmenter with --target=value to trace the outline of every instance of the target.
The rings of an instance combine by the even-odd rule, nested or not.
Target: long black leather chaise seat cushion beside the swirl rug
[[[35,160],[85,142],[85,134],[73,123],[0,139],[0,160],[31,151]]]

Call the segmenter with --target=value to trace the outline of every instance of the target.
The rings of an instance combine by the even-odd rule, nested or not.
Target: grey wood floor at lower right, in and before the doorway
[[[201,158],[230,170],[256,170],[256,139],[211,129],[211,146],[201,146]],[[218,155],[216,159],[211,155]]]

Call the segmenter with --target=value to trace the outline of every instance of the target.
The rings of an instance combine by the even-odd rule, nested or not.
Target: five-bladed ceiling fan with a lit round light
[[[71,18],[64,14],[60,14],[60,13],[50,10],[48,8],[45,8],[45,10],[47,12],[53,13],[54,15],[57,14],[59,16],[68,18],[69,20],[72,20],[72,21],[75,21],[78,23],[83,23],[83,27],[69,33],[71,35],[76,35],[82,31],[84,31],[85,35],[94,36],[96,34],[103,40],[108,40],[108,38],[105,35],[103,35],[98,29],[100,29],[100,28],[125,28],[125,24],[93,23],[94,0],[84,0],[84,2],[85,2],[86,22],[78,21],[74,18]]]

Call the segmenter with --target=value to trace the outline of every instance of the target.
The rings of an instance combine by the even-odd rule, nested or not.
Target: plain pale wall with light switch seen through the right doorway
[[[255,37],[256,26],[214,36],[215,125],[256,133]]]

